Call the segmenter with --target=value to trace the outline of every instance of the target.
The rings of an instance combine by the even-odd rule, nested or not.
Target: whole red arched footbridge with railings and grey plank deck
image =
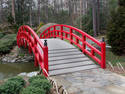
[[[34,65],[40,66],[46,77],[99,66],[106,68],[105,42],[72,26],[53,25],[39,37],[23,25],[17,33],[17,45],[28,47],[29,53],[34,54]]]

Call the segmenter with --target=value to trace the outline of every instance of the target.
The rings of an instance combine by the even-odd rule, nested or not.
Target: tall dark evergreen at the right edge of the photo
[[[125,54],[125,0],[119,0],[117,11],[112,12],[108,24],[107,38],[112,46],[112,52],[117,55]]]

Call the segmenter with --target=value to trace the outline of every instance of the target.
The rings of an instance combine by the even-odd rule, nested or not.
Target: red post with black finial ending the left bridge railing
[[[48,67],[48,47],[47,47],[47,40],[44,40],[44,68],[46,72],[49,74],[49,67]],[[46,74],[45,71],[43,71],[44,75],[47,77],[48,75]]]

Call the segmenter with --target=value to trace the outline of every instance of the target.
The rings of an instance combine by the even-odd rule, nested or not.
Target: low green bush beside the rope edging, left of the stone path
[[[30,85],[21,94],[46,94],[50,91],[50,82],[41,75],[29,78]]]

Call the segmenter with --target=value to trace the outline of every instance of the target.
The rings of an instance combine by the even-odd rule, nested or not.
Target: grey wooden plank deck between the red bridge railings
[[[44,39],[41,39],[44,43]],[[49,74],[58,75],[98,68],[93,61],[73,45],[60,39],[47,39]]]

